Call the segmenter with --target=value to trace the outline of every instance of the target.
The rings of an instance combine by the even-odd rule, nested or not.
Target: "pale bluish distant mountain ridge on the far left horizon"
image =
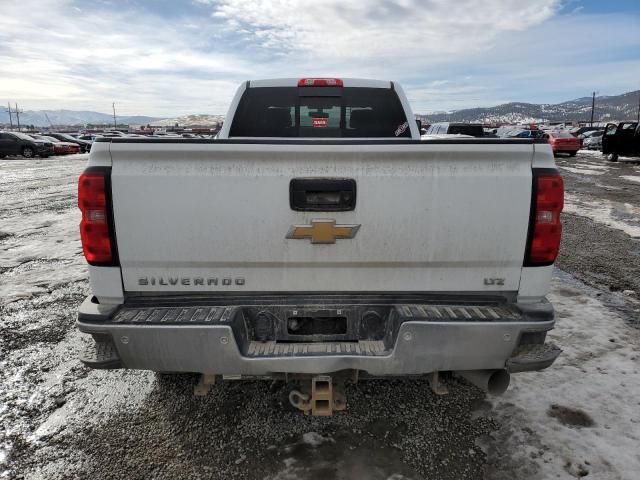
[[[13,123],[16,124],[15,114]],[[47,120],[47,116],[49,120]],[[116,117],[118,124],[144,124],[159,120],[157,117],[146,117],[141,115]],[[27,110],[20,114],[20,125],[35,125],[36,127],[48,127],[49,121],[56,126],[84,126],[92,125],[113,125],[113,116],[107,113],[76,111],[76,110]],[[0,124],[9,124],[9,113],[5,109],[0,111]]]

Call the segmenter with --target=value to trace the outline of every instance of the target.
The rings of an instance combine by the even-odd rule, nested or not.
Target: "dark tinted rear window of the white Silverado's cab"
[[[254,87],[247,89],[231,137],[409,137],[390,88]]]

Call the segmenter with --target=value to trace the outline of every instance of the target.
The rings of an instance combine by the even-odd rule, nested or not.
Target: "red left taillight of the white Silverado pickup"
[[[78,180],[78,207],[82,211],[80,239],[90,265],[116,265],[111,219],[111,169],[87,168]]]

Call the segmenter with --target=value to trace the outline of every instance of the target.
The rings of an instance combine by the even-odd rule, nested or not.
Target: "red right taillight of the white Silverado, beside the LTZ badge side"
[[[534,170],[532,200],[525,266],[551,265],[560,250],[564,206],[564,182],[557,171]]]

